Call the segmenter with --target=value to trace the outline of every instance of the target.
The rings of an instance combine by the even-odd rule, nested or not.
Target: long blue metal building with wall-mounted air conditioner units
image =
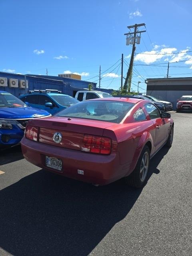
[[[28,88],[24,84],[25,81],[28,83]],[[22,83],[23,85],[21,85]],[[0,90],[10,92],[17,97],[27,93],[29,90],[45,89],[59,90],[64,94],[74,97],[77,91],[88,89],[90,83],[93,90],[98,90],[96,83],[73,78],[0,72]]]

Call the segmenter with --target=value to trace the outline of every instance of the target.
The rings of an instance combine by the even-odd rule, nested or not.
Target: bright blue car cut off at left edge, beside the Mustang
[[[9,92],[0,91],[0,148],[20,142],[28,121],[51,116],[45,110],[32,108]]]

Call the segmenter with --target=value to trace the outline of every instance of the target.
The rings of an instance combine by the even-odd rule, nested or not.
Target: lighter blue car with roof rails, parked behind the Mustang
[[[29,106],[44,109],[52,115],[79,102],[58,90],[34,90],[19,96],[19,98]]]

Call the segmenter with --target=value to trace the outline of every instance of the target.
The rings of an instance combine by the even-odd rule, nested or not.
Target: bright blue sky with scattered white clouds
[[[145,23],[132,89],[140,81],[144,92],[146,78],[166,76],[168,61],[175,62],[171,77],[192,76],[191,0],[0,0],[0,11],[0,71],[46,74],[47,68],[49,75],[70,71],[98,82],[101,65],[101,87],[118,89],[121,54],[125,77],[132,51],[124,33]]]

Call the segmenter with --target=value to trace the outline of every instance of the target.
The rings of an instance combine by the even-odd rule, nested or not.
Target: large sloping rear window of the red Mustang
[[[133,106],[134,103],[130,102],[90,100],[70,106],[69,108],[58,112],[55,116],[69,116],[120,123]]]

